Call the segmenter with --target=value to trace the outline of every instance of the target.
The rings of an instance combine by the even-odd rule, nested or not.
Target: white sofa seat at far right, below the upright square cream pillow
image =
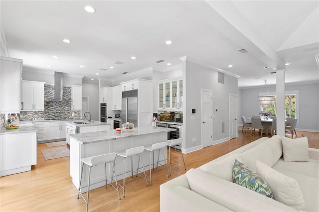
[[[305,211],[319,212],[319,161],[284,162],[281,158],[273,169],[294,178],[303,193]]]

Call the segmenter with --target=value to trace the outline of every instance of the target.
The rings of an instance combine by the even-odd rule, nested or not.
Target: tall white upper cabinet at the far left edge
[[[0,113],[20,113],[22,60],[2,57],[0,64]]]

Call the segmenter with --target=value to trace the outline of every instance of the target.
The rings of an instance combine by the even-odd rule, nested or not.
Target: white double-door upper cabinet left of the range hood
[[[44,110],[44,82],[22,80],[21,110]]]

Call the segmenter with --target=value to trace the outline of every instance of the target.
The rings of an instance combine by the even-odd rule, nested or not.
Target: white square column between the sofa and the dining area
[[[285,136],[285,70],[276,72],[277,135]]]

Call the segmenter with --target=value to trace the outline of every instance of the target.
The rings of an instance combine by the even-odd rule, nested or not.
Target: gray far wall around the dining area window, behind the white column
[[[276,87],[268,87],[271,92],[276,92]],[[246,118],[259,115],[260,107],[257,101],[259,92],[264,87],[240,89],[240,109],[238,120],[241,116]],[[299,90],[299,120],[296,129],[302,131],[319,132],[319,83],[286,85],[285,91]],[[268,89],[267,89],[268,91]],[[238,124],[242,124],[241,121]]]

